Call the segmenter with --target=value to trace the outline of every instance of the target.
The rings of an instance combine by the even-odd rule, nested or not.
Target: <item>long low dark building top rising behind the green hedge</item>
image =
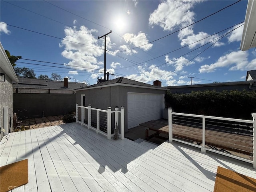
[[[216,91],[256,90],[256,80],[197,84],[197,85],[170,86],[170,87],[164,87],[164,88],[169,89],[172,93],[191,93],[192,91],[204,91],[204,90],[216,90]]]

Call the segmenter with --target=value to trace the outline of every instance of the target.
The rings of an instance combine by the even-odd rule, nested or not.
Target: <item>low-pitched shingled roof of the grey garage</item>
[[[116,78],[116,79],[113,79],[113,80],[109,80],[109,81],[101,82],[101,83],[98,83],[98,84],[90,85],[90,86],[87,86],[85,88],[79,88],[79,89],[76,89],[76,91],[86,90],[86,89],[93,89],[93,88],[101,88],[101,87],[109,87],[109,86],[118,86],[118,85],[119,86],[131,86],[131,87],[166,90],[166,88],[162,88],[162,87],[159,87],[159,86],[150,85],[150,84],[138,82],[138,81],[135,81],[135,80],[131,80],[131,79],[128,79],[128,78],[120,77],[120,78]]]

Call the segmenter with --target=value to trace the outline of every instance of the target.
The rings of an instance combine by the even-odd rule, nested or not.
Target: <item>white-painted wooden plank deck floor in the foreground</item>
[[[107,140],[70,123],[8,134],[1,166],[28,159],[18,191],[213,191],[217,166],[256,177],[251,164],[201,153],[177,142],[154,150],[128,139]]]

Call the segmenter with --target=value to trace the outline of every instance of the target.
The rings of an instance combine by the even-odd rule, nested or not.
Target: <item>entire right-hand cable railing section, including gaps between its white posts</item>
[[[168,108],[169,141],[250,162],[256,168],[256,114],[252,116],[253,120],[244,120],[176,113]],[[251,158],[241,158],[237,153]]]

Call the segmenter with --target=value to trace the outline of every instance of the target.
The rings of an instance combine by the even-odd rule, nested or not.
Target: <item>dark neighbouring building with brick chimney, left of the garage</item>
[[[13,84],[13,110],[19,119],[55,116],[75,112],[74,89],[84,83],[18,78]]]

